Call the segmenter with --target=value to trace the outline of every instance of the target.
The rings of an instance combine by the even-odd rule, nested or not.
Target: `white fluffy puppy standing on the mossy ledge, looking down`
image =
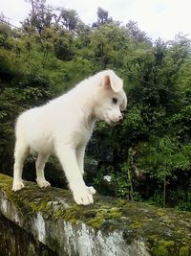
[[[84,152],[96,120],[112,125],[122,119],[120,110],[127,105],[122,87],[122,80],[114,71],[101,71],[48,104],[22,113],[15,128],[12,190],[24,187],[23,164],[32,151],[38,153],[37,184],[40,188],[50,186],[44,176],[44,167],[54,152],[68,179],[74,201],[83,205],[93,203],[96,190],[87,187],[83,180]]]

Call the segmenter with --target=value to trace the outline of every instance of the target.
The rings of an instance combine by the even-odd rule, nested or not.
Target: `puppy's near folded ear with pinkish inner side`
[[[114,92],[119,92],[122,90],[122,80],[119,79],[117,76],[105,76],[102,81],[104,87],[106,89],[112,89]]]

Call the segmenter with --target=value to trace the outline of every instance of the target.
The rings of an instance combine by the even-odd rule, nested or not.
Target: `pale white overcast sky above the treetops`
[[[124,25],[129,20],[137,21],[138,27],[154,40],[174,39],[180,32],[191,38],[191,0],[47,0],[47,4],[74,9],[86,24],[96,21],[97,7],[101,7]],[[30,10],[25,0],[0,0],[0,12],[16,26]]]

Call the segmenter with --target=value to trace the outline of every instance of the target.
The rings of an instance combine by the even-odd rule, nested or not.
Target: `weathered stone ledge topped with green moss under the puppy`
[[[191,255],[191,213],[99,195],[79,206],[69,191],[11,183],[0,175],[0,212],[57,255]]]

